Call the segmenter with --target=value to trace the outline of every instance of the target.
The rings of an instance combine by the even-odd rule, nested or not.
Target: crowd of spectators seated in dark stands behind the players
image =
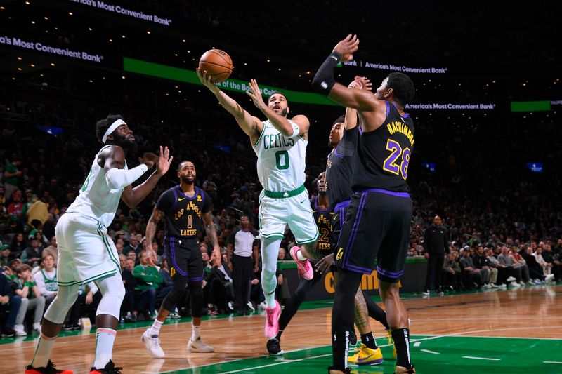
[[[55,225],[77,196],[92,157],[98,152],[93,123],[106,115],[103,112],[106,109],[96,111],[98,105],[81,110],[84,103],[59,106],[45,102],[0,102],[0,112],[20,113],[31,118],[21,123],[5,121],[0,138],[0,265],[4,273],[0,274],[0,326],[6,335],[24,335],[37,330],[41,316],[38,311],[48,306],[56,295],[57,286],[53,281],[57,259]],[[258,226],[261,186],[251,145],[230,117],[204,106],[187,109],[190,117],[190,126],[187,126],[174,119],[185,116],[185,107],[171,105],[157,114],[150,114],[143,109],[133,109],[126,101],[120,105],[126,120],[134,123],[132,128],[139,152],[168,145],[176,161],[190,159],[195,163],[196,184],[213,200],[213,220],[223,251],[221,264],[214,267],[215,264],[209,263],[209,241],[204,232],[200,233],[206,272],[206,312],[230,312],[234,295],[226,251],[229,237],[242,215],[249,218],[251,229]],[[55,126],[63,122],[61,119],[75,125],[53,136],[34,126],[33,119],[37,116],[47,125]],[[162,119],[157,121],[157,116]],[[157,123],[157,131],[150,123]],[[431,149],[424,147],[429,143],[424,142],[423,137],[424,130],[429,132],[430,129],[423,125],[420,128],[418,152],[428,157]],[[561,281],[559,175],[522,175],[523,171],[513,166],[507,156],[500,155],[494,160],[502,164],[501,168],[493,164],[471,168],[471,152],[487,157],[486,149],[492,144],[487,142],[488,137],[481,135],[476,131],[464,136],[463,140],[471,137],[481,140],[470,146],[455,138],[445,139],[444,142],[455,147],[433,150],[433,157],[445,160],[438,164],[437,173],[422,168],[419,165],[422,157],[415,159],[414,154],[409,178],[414,199],[409,254],[423,253],[424,230],[433,216],[439,214],[450,243],[450,253],[443,267],[447,288],[462,290],[502,284],[515,287],[522,283]],[[311,196],[315,193],[315,176],[325,168],[325,155],[329,152],[325,138],[316,139],[311,138],[307,156],[305,185]],[[128,162],[135,164],[133,157]],[[137,208],[119,206],[114,222],[108,227],[108,234],[119,252],[126,287],[123,322],[153,318],[159,301],[170,290],[170,274],[162,256],[164,229],[159,227],[154,243],[145,241],[144,233],[158,196],[177,184],[173,169]],[[544,194],[547,191],[548,196]],[[281,246],[291,248],[294,238],[288,229],[285,234]],[[157,269],[148,265],[148,248],[158,255]],[[285,257],[280,251],[280,259]],[[287,282],[282,273],[277,276],[280,283],[277,297],[282,301],[287,298]],[[94,283],[84,286],[64,328],[79,328],[79,319],[95,312],[99,297]],[[251,280],[249,300],[251,308],[263,302],[259,269]],[[171,318],[188,316],[189,305],[188,295],[176,305]]]

